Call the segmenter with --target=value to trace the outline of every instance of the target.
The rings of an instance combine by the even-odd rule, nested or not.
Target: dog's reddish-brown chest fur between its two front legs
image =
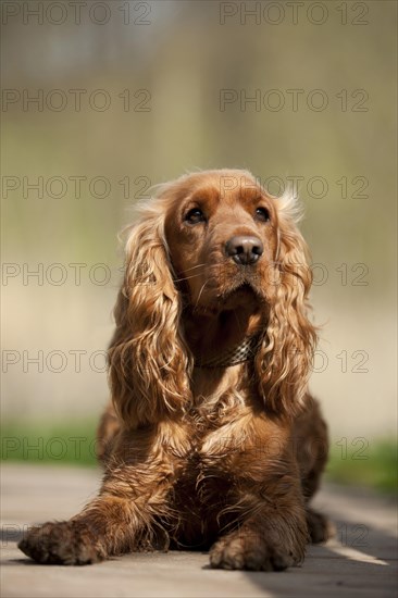
[[[246,512],[239,503],[244,507],[261,490],[270,457],[261,437],[269,437],[271,427],[274,437],[278,434],[238,393],[213,408],[209,403],[198,401],[185,416],[187,441],[175,462],[170,497],[178,513],[174,539],[179,547],[204,548],[222,530],[237,524]]]

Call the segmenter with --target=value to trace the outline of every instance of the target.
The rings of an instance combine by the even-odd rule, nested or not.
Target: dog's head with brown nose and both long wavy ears
[[[129,228],[110,348],[122,418],[152,422],[190,397],[183,309],[263,314],[254,359],[265,406],[293,414],[307,388],[315,331],[307,316],[307,246],[291,196],[271,197],[247,171],[185,175],[159,187]],[[135,424],[134,424],[135,425]]]

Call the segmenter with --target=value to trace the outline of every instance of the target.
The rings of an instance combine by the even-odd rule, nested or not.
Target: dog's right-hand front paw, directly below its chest
[[[214,569],[283,571],[298,561],[283,545],[266,541],[261,534],[245,535],[241,531],[224,536],[210,550],[210,564]]]

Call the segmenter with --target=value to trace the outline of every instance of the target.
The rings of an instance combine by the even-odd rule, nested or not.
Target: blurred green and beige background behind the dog
[[[397,4],[2,11],[3,458],[92,462],[116,234],[150,185],[232,166],[274,194],[299,179],[323,326],[311,386],[331,475],[391,487]],[[74,436],[90,439],[78,458]]]

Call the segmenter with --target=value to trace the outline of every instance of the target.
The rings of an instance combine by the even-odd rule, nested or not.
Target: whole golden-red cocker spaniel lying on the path
[[[295,198],[247,171],[159,187],[128,228],[99,427],[99,495],[20,543],[40,563],[209,549],[213,568],[283,570],[327,521],[327,457],[308,391],[316,331]]]

